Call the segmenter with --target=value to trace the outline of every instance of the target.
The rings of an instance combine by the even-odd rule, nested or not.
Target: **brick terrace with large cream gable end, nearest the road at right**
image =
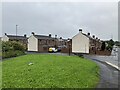
[[[96,54],[101,49],[102,42],[100,39],[90,33],[85,34],[82,29],[79,29],[79,33],[72,38],[72,53],[86,53]]]

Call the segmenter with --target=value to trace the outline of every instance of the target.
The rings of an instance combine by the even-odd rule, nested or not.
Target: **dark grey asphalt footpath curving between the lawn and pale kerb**
[[[86,58],[95,61],[100,66],[100,83],[98,84],[97,88],[120,87],[120,82],[118,81],[118,77],[120,77],[119,70],[110,65],[107,65],[106,63],[101,62],[101,60],[97,60],[97,58],[93,59],[91,56],[87,56]]]

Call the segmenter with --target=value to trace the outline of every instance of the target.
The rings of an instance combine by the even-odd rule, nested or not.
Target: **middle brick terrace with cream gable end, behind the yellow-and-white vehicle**
[[[51,34],[46,35],[36,35],[32,32],[32,35],[28,38],[28,51],[33,52],[48,52],[50,47],[65,47],[67,48],[67,42],[65,39],[52,37]],[[65,51],[67,52],[67,51]]]

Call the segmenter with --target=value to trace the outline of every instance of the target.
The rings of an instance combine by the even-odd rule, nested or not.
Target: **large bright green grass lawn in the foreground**
[[[3,88],[94,88],[99,82],[96,63],[77,56],[25,55],[3,61],[2,70]]]

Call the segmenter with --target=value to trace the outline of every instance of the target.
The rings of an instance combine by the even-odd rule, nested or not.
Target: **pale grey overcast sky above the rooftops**
[[[117,2],[4,2],[2,33],[72,38],[83,29],[100,39],[118,40]]]

